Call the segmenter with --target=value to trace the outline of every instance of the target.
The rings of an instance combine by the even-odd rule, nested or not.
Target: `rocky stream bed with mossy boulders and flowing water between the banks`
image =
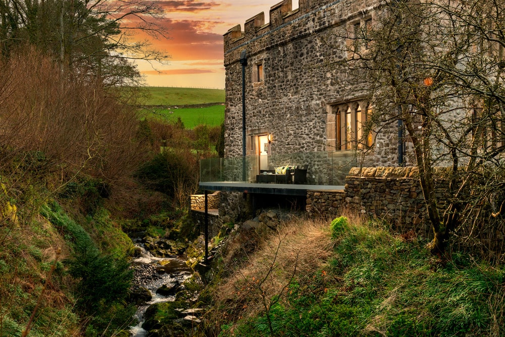
[[[133,239],[136,254],[130,301],[138,310],[133,337],[190,335],[200,323],[200,309],[191,309],[203,288],[200,276],[181,258],[184,253],[169,240]],[[147,249],[146,249],[147,248]]]

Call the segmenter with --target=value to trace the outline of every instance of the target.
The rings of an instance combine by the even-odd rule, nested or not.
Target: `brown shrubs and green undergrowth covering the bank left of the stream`
[[[129,336],[125,232],[179,226],[210,131],[30,47],[0,70],[0,337]]]

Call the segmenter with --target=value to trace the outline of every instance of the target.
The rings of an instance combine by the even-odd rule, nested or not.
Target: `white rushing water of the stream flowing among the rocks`
[[[134,269],[133,283],[146,288],[152,297],[150,301],[138,307],[134,318],[139,323],[131,326],[130,332],[132,337],[145,337],[147,331],[142,328],[142,324],[144,323],[143,315],[147,308],[151,304],[175,301],[174,295],[160,295],[157,294],[157,290],[163,285],[181,284],[184,280],[191,277],[193,271],[181,258],[155,257],[145,250],[141,244],[141,239],[132,239],[132,241],[141,251],[140,257],[132,259]]]

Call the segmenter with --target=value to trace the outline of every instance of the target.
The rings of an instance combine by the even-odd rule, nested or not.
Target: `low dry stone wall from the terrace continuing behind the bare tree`
[[[436,176],[442,176],[435,170]],[[437,173],[439,172],[439,173]],[[328,217],[345,212],[358,212],[369,218],[384,219],[392,230],[406,233],[414,230],[424,237],[432,231],[427,218],[424,198],[418,179],[417,167],[352,168],[346,176],[343,190],[310,190],[306,210],[310,214]],[[449,182],[435,179],[439,200],[448,200]],[[439,205],[442,209],[446,205]],[[479,209],[481,210],[481,209]],[[501,218],[490,211],[467,215],[466,222],[457,229],[455,237],[465,249],[479,252],[505,251],[505,226]]]

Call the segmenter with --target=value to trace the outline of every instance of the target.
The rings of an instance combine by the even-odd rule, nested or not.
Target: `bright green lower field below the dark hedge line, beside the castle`
[[[163,123],[176,122],[177,117],[180,117],[186,129],[192,129],[199,124],[217,126],[224,120],[224,105],[206,108],[144,109],[141,115],[148,120],[157,120]]]

